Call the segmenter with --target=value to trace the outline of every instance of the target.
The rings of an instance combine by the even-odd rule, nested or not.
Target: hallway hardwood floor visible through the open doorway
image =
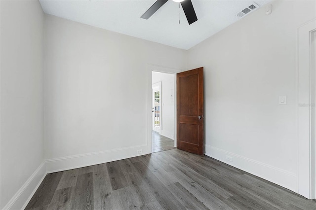
[[[152,131],[152,152],[160,152],[169,149],[175,149],[174,140]]]

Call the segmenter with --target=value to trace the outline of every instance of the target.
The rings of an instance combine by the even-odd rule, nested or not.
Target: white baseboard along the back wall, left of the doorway
[[[137,150],[142,153],[137,154]],[[46,160],[47,174],[147,154],[147,144]]]

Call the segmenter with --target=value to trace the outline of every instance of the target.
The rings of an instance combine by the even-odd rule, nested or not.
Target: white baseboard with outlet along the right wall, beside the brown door
[[[270,166],[259,161],[242,157],[229,151],[205,145],[205,155],[234,166],[242,171],[276,183],[297,193],[297,176],[291,172]],[[233,157],[233,162],[226,159],[226,155]]]

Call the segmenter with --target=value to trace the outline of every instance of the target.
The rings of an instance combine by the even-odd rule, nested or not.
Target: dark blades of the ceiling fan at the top
[[[147,9],[147,11],[141,16],[141,18],[147,20],[167,1],[168,0],[157,0],[149,9]],[[189,25],[197,21],[197,15],[196,15],[196,12],[194,11],[191,0],[173,0],[173,1],[181,3],[183,11],[189,22]]]

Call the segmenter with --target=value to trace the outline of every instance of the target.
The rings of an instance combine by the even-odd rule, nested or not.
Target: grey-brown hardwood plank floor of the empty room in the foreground
[[[316,210],[316,202],[207,156],[172,149],[48,174],[26,209]]]

